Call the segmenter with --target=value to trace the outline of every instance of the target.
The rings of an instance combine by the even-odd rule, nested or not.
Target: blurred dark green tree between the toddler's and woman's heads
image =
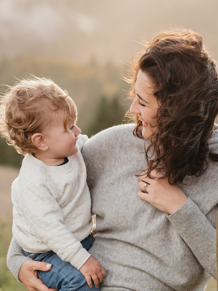
[[[120,103],[117,96],[112,99],[102,96],[91,116],[91,123],[89,123],[84,133],[90,137],[102,129],[121,124],[124,116],[125,107]]]

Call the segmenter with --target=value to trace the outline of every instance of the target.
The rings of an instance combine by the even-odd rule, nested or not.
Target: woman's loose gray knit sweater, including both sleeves
[[[137,196],[146,168],[144,141],[133,125],[100,132],[84,146],[92,212],[96,214],[91,255],[106,270],[101,291],[197,291],[216,276],[218,163],[209,161],[200,176],[179,186],[189,197],[171,215]],[[211,148],[218,152],[218,128]],[[147,144],[146,144],[147,145]],[[26,258],[15,239],[8,267],[18,277]]]

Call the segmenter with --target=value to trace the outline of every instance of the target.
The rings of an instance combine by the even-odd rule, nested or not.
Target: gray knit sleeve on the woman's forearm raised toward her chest
[[[190,198],[167,217],[202,267],[216,278],[216,229],[207,217]]]

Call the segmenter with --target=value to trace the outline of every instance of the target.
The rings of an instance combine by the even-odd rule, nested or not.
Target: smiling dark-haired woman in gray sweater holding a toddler
[[[215,62],[197,33],[168,31],[145,43],[127,81],[135,127],[106,129],[82,151],[96,214],[90,253],[107,274],[101,290],[203,290],[216,276]],[[50,267],[25,260],[13,239],[10,270],[29,291],[49,290],[36,270]]]

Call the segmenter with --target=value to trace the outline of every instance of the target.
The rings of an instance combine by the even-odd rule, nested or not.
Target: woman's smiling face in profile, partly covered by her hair
[[[155,118],[157,112],[157,99],[154,96],[154,84],[150,81],[148,75],[139,71],[135,83],[136,97],[130,107],[131,113],[138,114],[142,121],[143,129],[142,135],[144,139],[150,139],[152,132],[157,124]]]

